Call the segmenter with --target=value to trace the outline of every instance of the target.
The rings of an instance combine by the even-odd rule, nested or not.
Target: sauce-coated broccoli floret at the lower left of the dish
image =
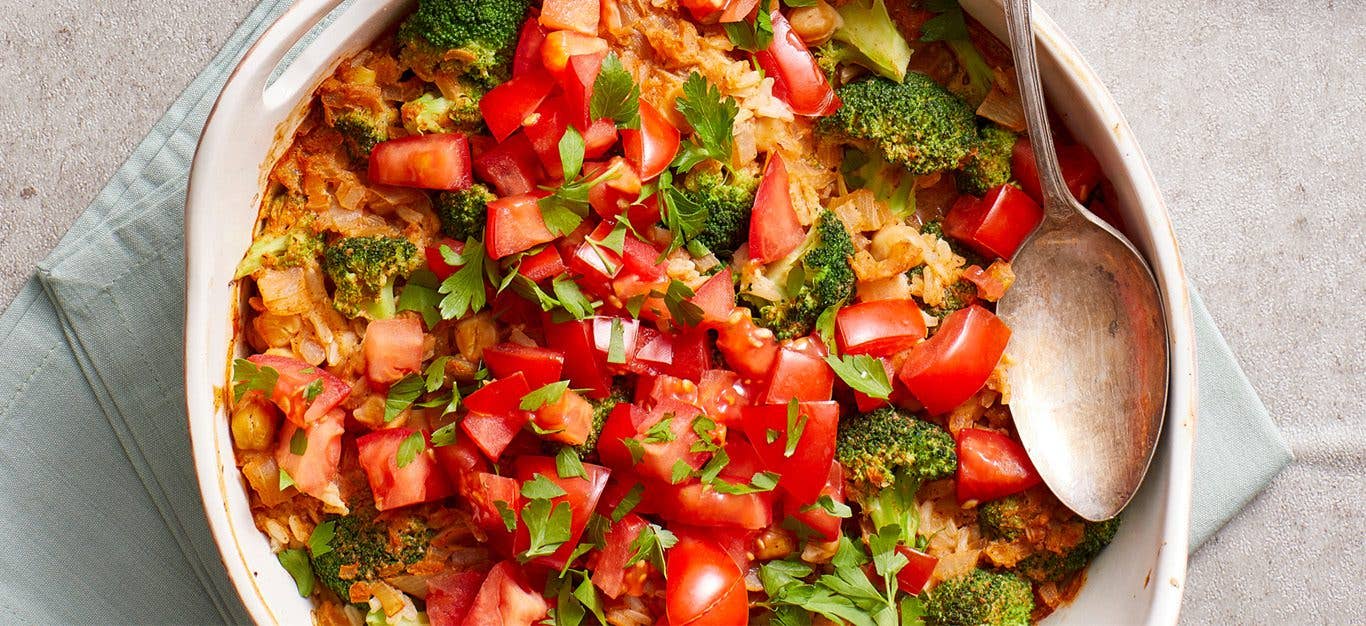
[[[331,518],[332,548],[313,555],[313,573],[342,601],[351,600],[351,585],[403,573],[426,556],[432,529],[415,517],[380,519],[373,511],[354,511]]]

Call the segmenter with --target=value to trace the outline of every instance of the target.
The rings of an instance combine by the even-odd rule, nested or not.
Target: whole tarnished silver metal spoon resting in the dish
[[[1068,193],[1050,139],[1030,0],[1005,0],[1046,217],[997,303],[1012,332],[1011,413],[1044,482],[1078,515],[1119,514],[1167,413],[1162,298],[1138,250]]]

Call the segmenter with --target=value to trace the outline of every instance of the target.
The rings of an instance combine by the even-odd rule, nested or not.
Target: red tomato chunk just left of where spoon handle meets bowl
[[[1044,221],[1044,209],[1014,185],[1001,185],[981,200],[962,195],[944,216],[944,234],[988,257],[1009,260]]]

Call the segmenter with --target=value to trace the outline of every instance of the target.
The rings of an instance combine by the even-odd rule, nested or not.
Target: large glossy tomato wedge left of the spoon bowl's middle
[[[986,384],[1009,339],[1011,329],[992,312],[978,305],[959,309],[911,349],[897,377],[925,410],[948,413]]]

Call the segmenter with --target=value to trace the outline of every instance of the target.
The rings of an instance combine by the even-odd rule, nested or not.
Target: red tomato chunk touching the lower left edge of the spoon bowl
[[[996,431],[958,432],[958,502],[988,502],[1029,489],[1044,480],[1024,446]]]

